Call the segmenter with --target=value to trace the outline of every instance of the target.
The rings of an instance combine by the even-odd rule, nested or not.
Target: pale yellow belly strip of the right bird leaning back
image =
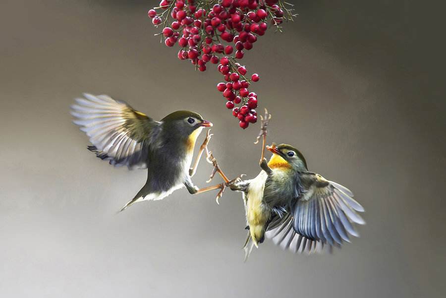
[[[269,217],[268,207],[263,202],[263,191],[267,177],[268,175],[264,171],[260,172],[256,178],[250,181],[246,194],[246,220],[255,243],[263,238],[265,225]]]

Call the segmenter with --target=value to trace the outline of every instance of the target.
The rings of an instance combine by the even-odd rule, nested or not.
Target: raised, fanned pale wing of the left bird
[[[113,166],[146,169],[149,146],[161,123],[107,95],[84,94],[71,106],[75,124],[93,146],[88,149]]]

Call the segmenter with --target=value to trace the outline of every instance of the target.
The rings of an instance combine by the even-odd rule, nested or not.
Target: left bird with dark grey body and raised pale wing
[[[151,119],[122,101],[107,95],[84,94],[71,106],[74,123],[89,137],[90,151],[115,167],[147,169],[146,184],[122,207],[143,200],[161,200],[186,186],[192,194],[221,188],[222,184],[200,190],[192,183],[204,146],[190,168],[195,141],[204,127],[212,123],[190,111],[176,111],[161,121]]]

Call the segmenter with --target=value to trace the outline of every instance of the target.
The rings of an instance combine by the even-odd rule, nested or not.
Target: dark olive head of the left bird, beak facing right
[[[204,120],[200,114],[191,111],[176,111],[161,119],[163,126],[170,134],[184,139],[192,149],[204,127],[211,127],[210,121]]]

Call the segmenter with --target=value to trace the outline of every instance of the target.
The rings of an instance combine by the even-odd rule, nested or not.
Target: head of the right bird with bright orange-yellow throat
[[[307,162],[299,150],[291,145],[280,144],[276,146],[273,143],[267,146],[267,149],[273,153],[268,166],[274,168],[294,169],[297,171],[307,170]]]

